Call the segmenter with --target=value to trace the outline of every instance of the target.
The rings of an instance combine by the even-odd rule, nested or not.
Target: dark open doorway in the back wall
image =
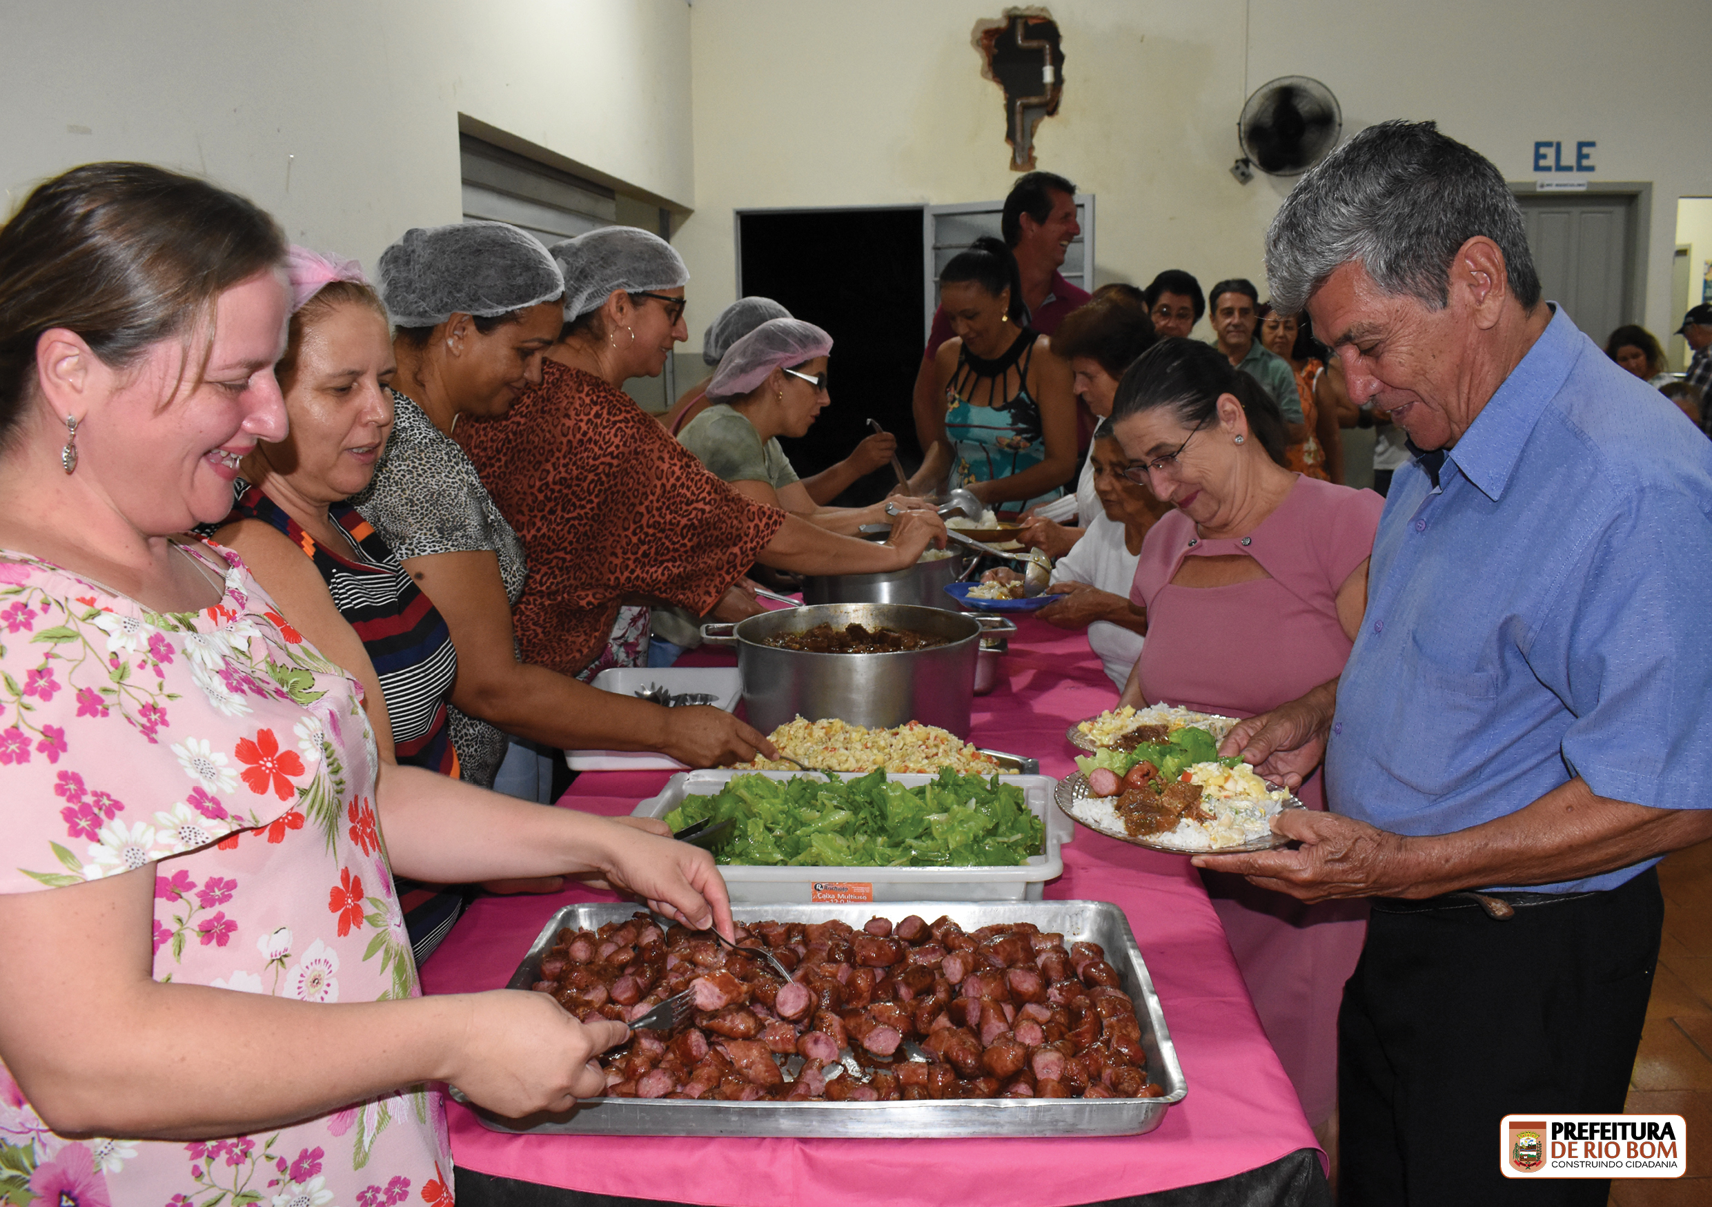
[[[738,212],[738,293],[772,298],[832,334],[832,406],[801,440],[781,440],[803,478],[849,455],[868,419],[897,435],[906,469],[921,464],[909,394],[924,329],[923,209]],[[863,478],[841,505],[871,503],[895,476]]]

